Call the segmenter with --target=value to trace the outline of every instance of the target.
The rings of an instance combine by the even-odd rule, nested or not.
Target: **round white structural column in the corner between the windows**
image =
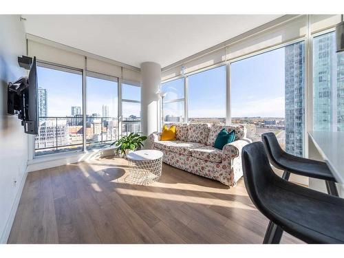
[[[158,63],[141,64],[141,129],[145,136],[158,131],[160,120],[161,66]]]

